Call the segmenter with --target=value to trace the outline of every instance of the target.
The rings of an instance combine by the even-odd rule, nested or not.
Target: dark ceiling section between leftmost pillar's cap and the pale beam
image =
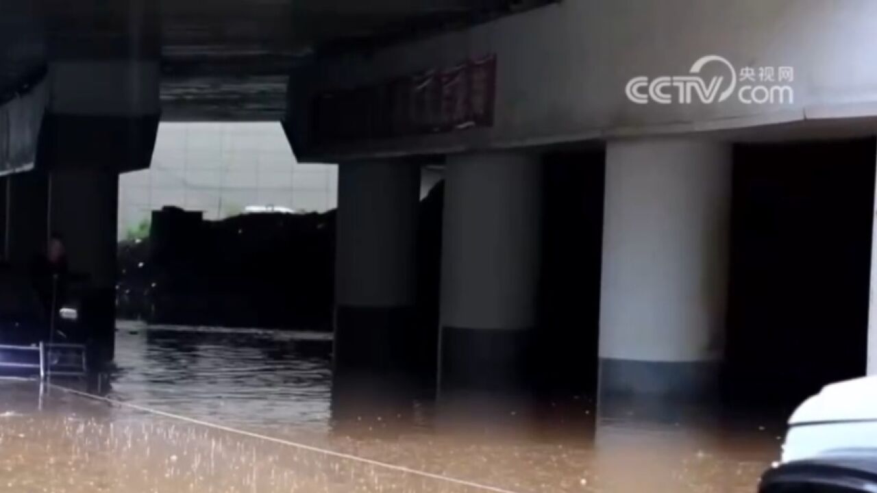
[[[507,0],[164,0],[166,119],[277,119],[292,63],[422,35]],[[209,4],[209,7],[205,4]]]

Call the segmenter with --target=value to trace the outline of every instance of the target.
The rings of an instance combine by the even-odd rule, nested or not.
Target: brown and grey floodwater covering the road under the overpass
[[[252,434],[0,382],[0,491],[752,492],[779,454],[777,422],[364,403],[333,395],[319,336],[121,327],[107,398]]]

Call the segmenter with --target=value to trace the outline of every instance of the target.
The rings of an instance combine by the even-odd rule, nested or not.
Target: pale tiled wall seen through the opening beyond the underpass
[[[119,180],[118,236],[164,205],[234,215],[247,205],[326,211],[338,167],[296,162],[278,123],[162,123],[150,169]]]

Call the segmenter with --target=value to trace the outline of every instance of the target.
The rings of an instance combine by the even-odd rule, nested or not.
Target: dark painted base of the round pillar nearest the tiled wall
[[[407,373],[417,362],[413,306],[345,306],[335,311],[336,372]]]

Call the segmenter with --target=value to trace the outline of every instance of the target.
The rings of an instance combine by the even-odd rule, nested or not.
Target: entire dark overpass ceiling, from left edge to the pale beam
[[[533,3],[545,0],[0,0],[0,90],[46,53],[123,45],[160,51],[165,119],[278,119],[293,63]]]

